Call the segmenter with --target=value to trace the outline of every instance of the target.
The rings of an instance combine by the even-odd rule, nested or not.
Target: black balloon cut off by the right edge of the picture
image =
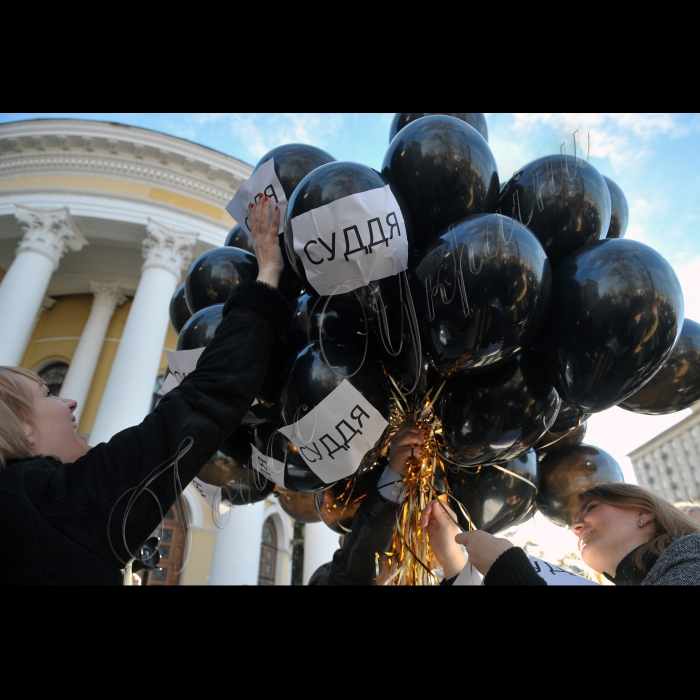
[[[619,403],[632,413],[658,416],[690,408],[700,400],[700,323],[686,318],[671,357],[632,396]]]

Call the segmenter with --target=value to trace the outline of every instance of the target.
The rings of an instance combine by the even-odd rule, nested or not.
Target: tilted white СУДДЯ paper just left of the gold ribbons
[[[313,411],[279,431],[291,440],[309,469],[332,484],[354,474],[389,425],[345,379]]]

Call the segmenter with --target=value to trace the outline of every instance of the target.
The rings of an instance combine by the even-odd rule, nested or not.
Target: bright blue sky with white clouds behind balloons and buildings
[[[338,160],[381,167],[393,114],[75,114],[5,113],[0,122],[36,118],[113,121],[195,141],[254,165],[268,150],[305,142]],[[489,144],[501,179],[526,163],[573,153],[573,133],[590,161],[623,190],[630,205],[628,238],[655,248],[675,268],[686,316],[700,322],[700,115],[622,113],[486,113]],[[589,421],[587,441],[611,452],[634,481],[626,453],[688,412],[635,416],[610,409]]]

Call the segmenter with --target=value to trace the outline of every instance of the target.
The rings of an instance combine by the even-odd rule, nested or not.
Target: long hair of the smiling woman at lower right
[[[654,535],[639,548],[634,558],[634,563],[639,569],[642,568],[642,560],[647,552],[659,555],[681,537],[700,534],[700,523],[641,486],[603,484],[588,489],[581,494],[580,498],[582,506],[596,500],[617,508],[629,508],[653,514]]]

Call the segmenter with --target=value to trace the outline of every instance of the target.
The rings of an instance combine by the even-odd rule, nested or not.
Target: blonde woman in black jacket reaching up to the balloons
[[[230,295],[197,368],[108,443],[74,430],[76,403],[0,368],[0,583],[117,584],[184,487],[240,424],[291,320],[265,197],[251,212],[259,275]]]

